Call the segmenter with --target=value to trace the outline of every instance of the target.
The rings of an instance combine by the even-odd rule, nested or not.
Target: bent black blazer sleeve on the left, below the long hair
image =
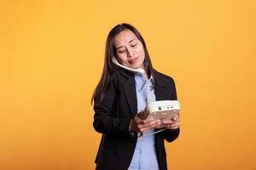
[[[113,116],[116,95],[112,81],[101,103],[94,105],[95,115],[93,127],[98,133],[114,136],[131,136],[129,132],[131,119]]]

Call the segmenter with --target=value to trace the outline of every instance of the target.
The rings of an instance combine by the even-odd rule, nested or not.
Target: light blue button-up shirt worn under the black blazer
[[[143,111],[147,105],[146,83],[143,75],[135,74],[136,92],[137,92],[137,112]],[[155,101],[153,78],[150,77],[150,101]],[[147,134],[154,133],[150,130]],[[132,156],[131,164],[128,170],[159,170],[154,134],[146,136],[137,141],[137,145]]]

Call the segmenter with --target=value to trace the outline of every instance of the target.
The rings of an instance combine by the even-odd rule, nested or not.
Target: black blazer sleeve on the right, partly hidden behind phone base
[[[172,77],[170,77],[170,83],[168,83],[170,88],[170,92],[171,92],[171,95],[172,95],[172,99],[174,100],[177,100],[177,93],[176,93],[176,87],[175,87],[175,82],[174,80],[172,79]],[[164,130],[162,133],[164,135],[164,139],[166,139],[167,142],[172,142],[173,140],[177,139],[178,135],[179,135],[179,132],[180,132],[180,128],[178,127],[177,129],[175,130],[172,130],[172,129],[166,129]]]

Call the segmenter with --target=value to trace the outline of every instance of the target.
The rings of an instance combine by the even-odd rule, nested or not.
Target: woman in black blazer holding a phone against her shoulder
[[[167,169],[164,139],[177,139],[179,117],[163,122],[147,118],[146,79],[138,69],[147,74],[150,101],[177,99],[172,77],[154,70],[139,31],[129,24],[114,26],[106,42],[102,77],[92,96],[93,126],[102,133],[96,169]],[[166,130],[154,133],[158,128]],[[142,133],[146,137],[137,140]]]

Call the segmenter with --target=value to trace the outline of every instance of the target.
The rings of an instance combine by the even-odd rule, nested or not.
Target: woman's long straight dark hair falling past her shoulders
[[[120,24],[114,26],[113,29],[108,33],[106,47],[105,47],[105,59],[104,59],[104,67],[102,71],[102,77],[91,98],[91,104],[94,100],[94,105],[98,105],[102,99],[104,98],[106,91],[108,90],[109,83],[112,80],[113,74],[119,70],[119,66],[115,65],[112,61],[113,57],[116,57],[116,48],[113,43],[113,38],[119,34],[121,31],[130,30],[132,31],[137,38],[143,43],[143,48],[145,52],[145,59],[144,59],[144,68],[148,74],[148,77],[152,76],[154,80],[154,69],[151,64],[151,60],[149,58],[148,49],[146,47],[146,43],[143,40],[143,36],[134,26],[130,24]]]

